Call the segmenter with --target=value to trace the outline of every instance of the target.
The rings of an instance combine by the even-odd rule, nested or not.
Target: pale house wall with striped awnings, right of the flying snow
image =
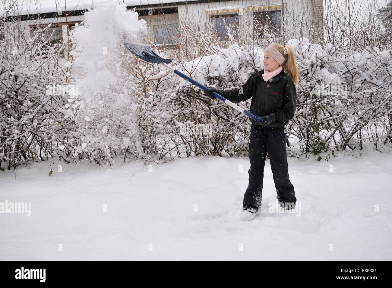
[[[184,24],[202,31],[212,30],[221,40],[229,37],[226,26],[234,28],[234,36],[251,28],[259,32],[281,31],[314,41],[323,39],[323,0],[165,0],[156,4],[151,3],[158,1],[145,0],[132,1],[132,4],[134,2],[140,4],[127,8],[135,9],[140,18],[146,20],[157,44],[174,44]]]

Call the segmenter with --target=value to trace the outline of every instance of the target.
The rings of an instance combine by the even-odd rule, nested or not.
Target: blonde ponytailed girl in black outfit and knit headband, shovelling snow
[[[263,63],[265,69],[252,74],[238,89],[203,90],[211,99],[215,98],[212,92],[216,92],[233,103],[252,97],[250,112],[265,119],[264,122],[250,119],[249,185],[243,198],[242,220],[251,220],[260,211],[267,152],[279,205],[292,209],[297,201],[289,179],[284,128],[296,110],[298,68],[294,50],[272,44],[264,50]]]

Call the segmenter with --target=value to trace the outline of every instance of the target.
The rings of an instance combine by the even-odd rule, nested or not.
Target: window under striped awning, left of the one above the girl
[[[236,38],[238,36],[238,13],[211,15],[212,29],[216,37],[221,41],[229,40],[230,34]]]

